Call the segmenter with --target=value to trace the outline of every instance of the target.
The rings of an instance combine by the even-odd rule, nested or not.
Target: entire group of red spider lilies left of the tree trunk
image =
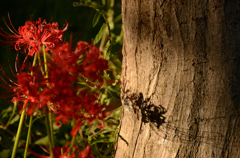
[[[35,22],[27,21],[18,31],[13,27],[14,31],[10,29],[13,35],[0,32],[0,36],[7,39],[5,43],[34,57],[32,65],[23,63],[15,75],[16,81],[12,82],[14,85],[0,86],[12,90],[12,102],[18,103],[28,115],[51,112],[57,125],[74,123],[71,135],[76,136],[83,121],[91,124],[98,120],[98,127],[104,127],[107,106],[100,104],[100,92],[108,61],[93,44],[79,41],[72,49],[69,43],[62,42],[67,27],[68,24],[60,30],[58,23],[46,23],[39,18]],[[56,157],[61,157],[60,148],[52,150]],[[63,150],[66,157],[70,149]],[[75,151],[79,157],[91,157],[89,146],[84,152],[75,146]]]

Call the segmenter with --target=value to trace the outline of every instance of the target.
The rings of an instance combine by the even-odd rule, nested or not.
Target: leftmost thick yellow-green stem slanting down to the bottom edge
[[[24,104],[27,104],[27,102],[25,102]],[[19,124],[18,124],[17,135],[16,135],[16,139],[15,139],[15,142],[14,142],[13,152],[12,152],[11,158],[15,158],[15,156],[16,156],[17,146],[18,146],[18,142],[19,142],[19,138],[20,138],[20,134],[21,134],[21,130],[22,130],[22,125],[23,125],[23,122],[24,122],[25,112],[26,112],[26,109],[24,108],[22,113],[21,113],[21,118],[20,118],[20,121],[19,121]]]

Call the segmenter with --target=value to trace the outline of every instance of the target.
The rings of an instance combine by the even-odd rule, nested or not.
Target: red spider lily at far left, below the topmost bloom
[[[30,68],[33,75],[27,72],[22,72],[21,70],[19,73],[14,75],[15,80],[10,79],[2,68],[0,70],[3,72],[5,78],[12,83],[12,85],[8,84],[4,78],[0,76],[2,81],[5,83],[5,85],[0,86],[5,88],[11,94],[10,96],[13,96],[13,103],[18,101],[18,106],[22,110],[27,108],[28,115],[32,115],[34,109],[43,109],[42,107],[47,105],[39,99],[40,88],[46,88],[47,86],[46,79],[43,75],[41,75],[40,70],[35,67]]]

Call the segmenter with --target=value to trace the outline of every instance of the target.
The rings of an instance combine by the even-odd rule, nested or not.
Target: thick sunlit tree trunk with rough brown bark
[[[122,0],[116,158],[240,158],[240,1]]]

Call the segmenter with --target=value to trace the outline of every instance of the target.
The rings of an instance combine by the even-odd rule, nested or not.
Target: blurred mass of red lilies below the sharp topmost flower
[[[99,54],[96,46],[82,41],[78,42],[74,51],[69,43],[57,46],[47,63],[47,72],[41,73],[43,63],[31,68],[32,75],[26,72],[16,75],[18,86],[13,88],[16,96],[12,101],[23,103],[19,104],[23,109],[28,105],[28,115],[47,106],[56,115],[57,124],[59,121],[67,123],[75,120],[76,126],[71,132],[73,136],[83,120],[88,123],[96,119],[103,121],[106,105],[100,104],[97,92],[90,92],[91,86],[102,84],[101,75],[108,68],[107,61]],[[79,80],[89,80],[90,87],[79,83]]]

